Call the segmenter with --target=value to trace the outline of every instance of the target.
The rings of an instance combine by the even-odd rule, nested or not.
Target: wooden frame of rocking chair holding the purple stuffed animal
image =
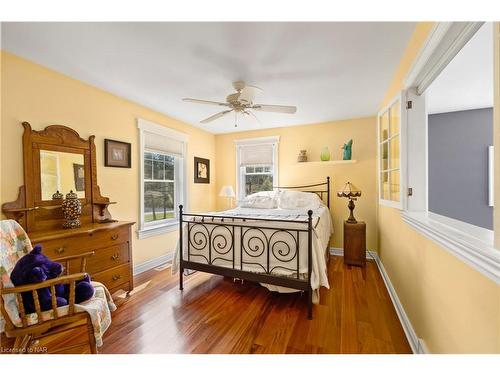
[[[69,256],[57,259],[59,263],[63,263],[65,265],[64,268],[66,275],[47,280],[42,283],[22,285],[18,287],[3,287],[3,284],[0,281],[0,309],[5,319],[5,335],[7,337],[15,337],[14,347],[12,348],[13,353],[27,353],[27,349],[33,340],[41,339],[49,335],[60,334],[62,332],[78,328],[80,326],[87,327],[88,344],[83,343],[62,347],[56,351],[53,351],[53,353],[72,350],[76,349],[77,347],[87,345],[90,347],[91,353],[97,353],[94,328],[92,326],[90,315],[87,312],[75,312],[75,286],[78,281],[82,280],[86,276],[86,259],[87,257],[92,255],[94,255],[94,252],[88,252],[77,256]],[[79,273],[70,274],[70,261],[78,260],[78,258],[80,258]],[[70,295],[67,307],[57,307],[55,297],[55,285],[57,284],[69,285]],[[37,294],[37,290],[40,288],[50,288],[52,294],[51,310],[43,312],[41,311]],[[21,297],[21,293],[23,292],[31,292],[33,295],[37,318],[34,322],[30,322],[30,320],[28,319],[28,315],[25,313],[25,307]],[[21,326],[19,326],[19,324],[16,325],[6,311],[5,298],[7,295],[11,295],[10,298],[12,298],[12,295],[15,296],[15,300],[17,301],[17,307],[19,310],[19,316],[22,322]],[[63,314],[61,310],[66,308],[67,313]]]

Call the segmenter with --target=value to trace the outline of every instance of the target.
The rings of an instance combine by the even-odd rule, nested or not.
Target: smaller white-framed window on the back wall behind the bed
[[[236,141],[238,199],[278,185],[279,137]]]

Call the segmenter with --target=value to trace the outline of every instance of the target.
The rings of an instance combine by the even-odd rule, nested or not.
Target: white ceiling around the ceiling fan
[[[214,133],[372,116],[414,23],[3,23],[2,46],[103,90]],[[231,82],[264,89],[261,125],[183,97],[224,100]]]

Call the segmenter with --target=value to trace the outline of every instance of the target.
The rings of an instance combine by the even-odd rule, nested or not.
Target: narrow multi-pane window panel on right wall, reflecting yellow
[[[378,115],[379,200],[398,208],[402,207],[401,113],[401,97],[398,96]]]

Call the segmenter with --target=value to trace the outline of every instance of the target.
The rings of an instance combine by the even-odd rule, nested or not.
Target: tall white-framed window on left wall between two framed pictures
[[[139,238],[177,229],[178,209],[186,196],[187,136],[138,120],[141,147]]]

